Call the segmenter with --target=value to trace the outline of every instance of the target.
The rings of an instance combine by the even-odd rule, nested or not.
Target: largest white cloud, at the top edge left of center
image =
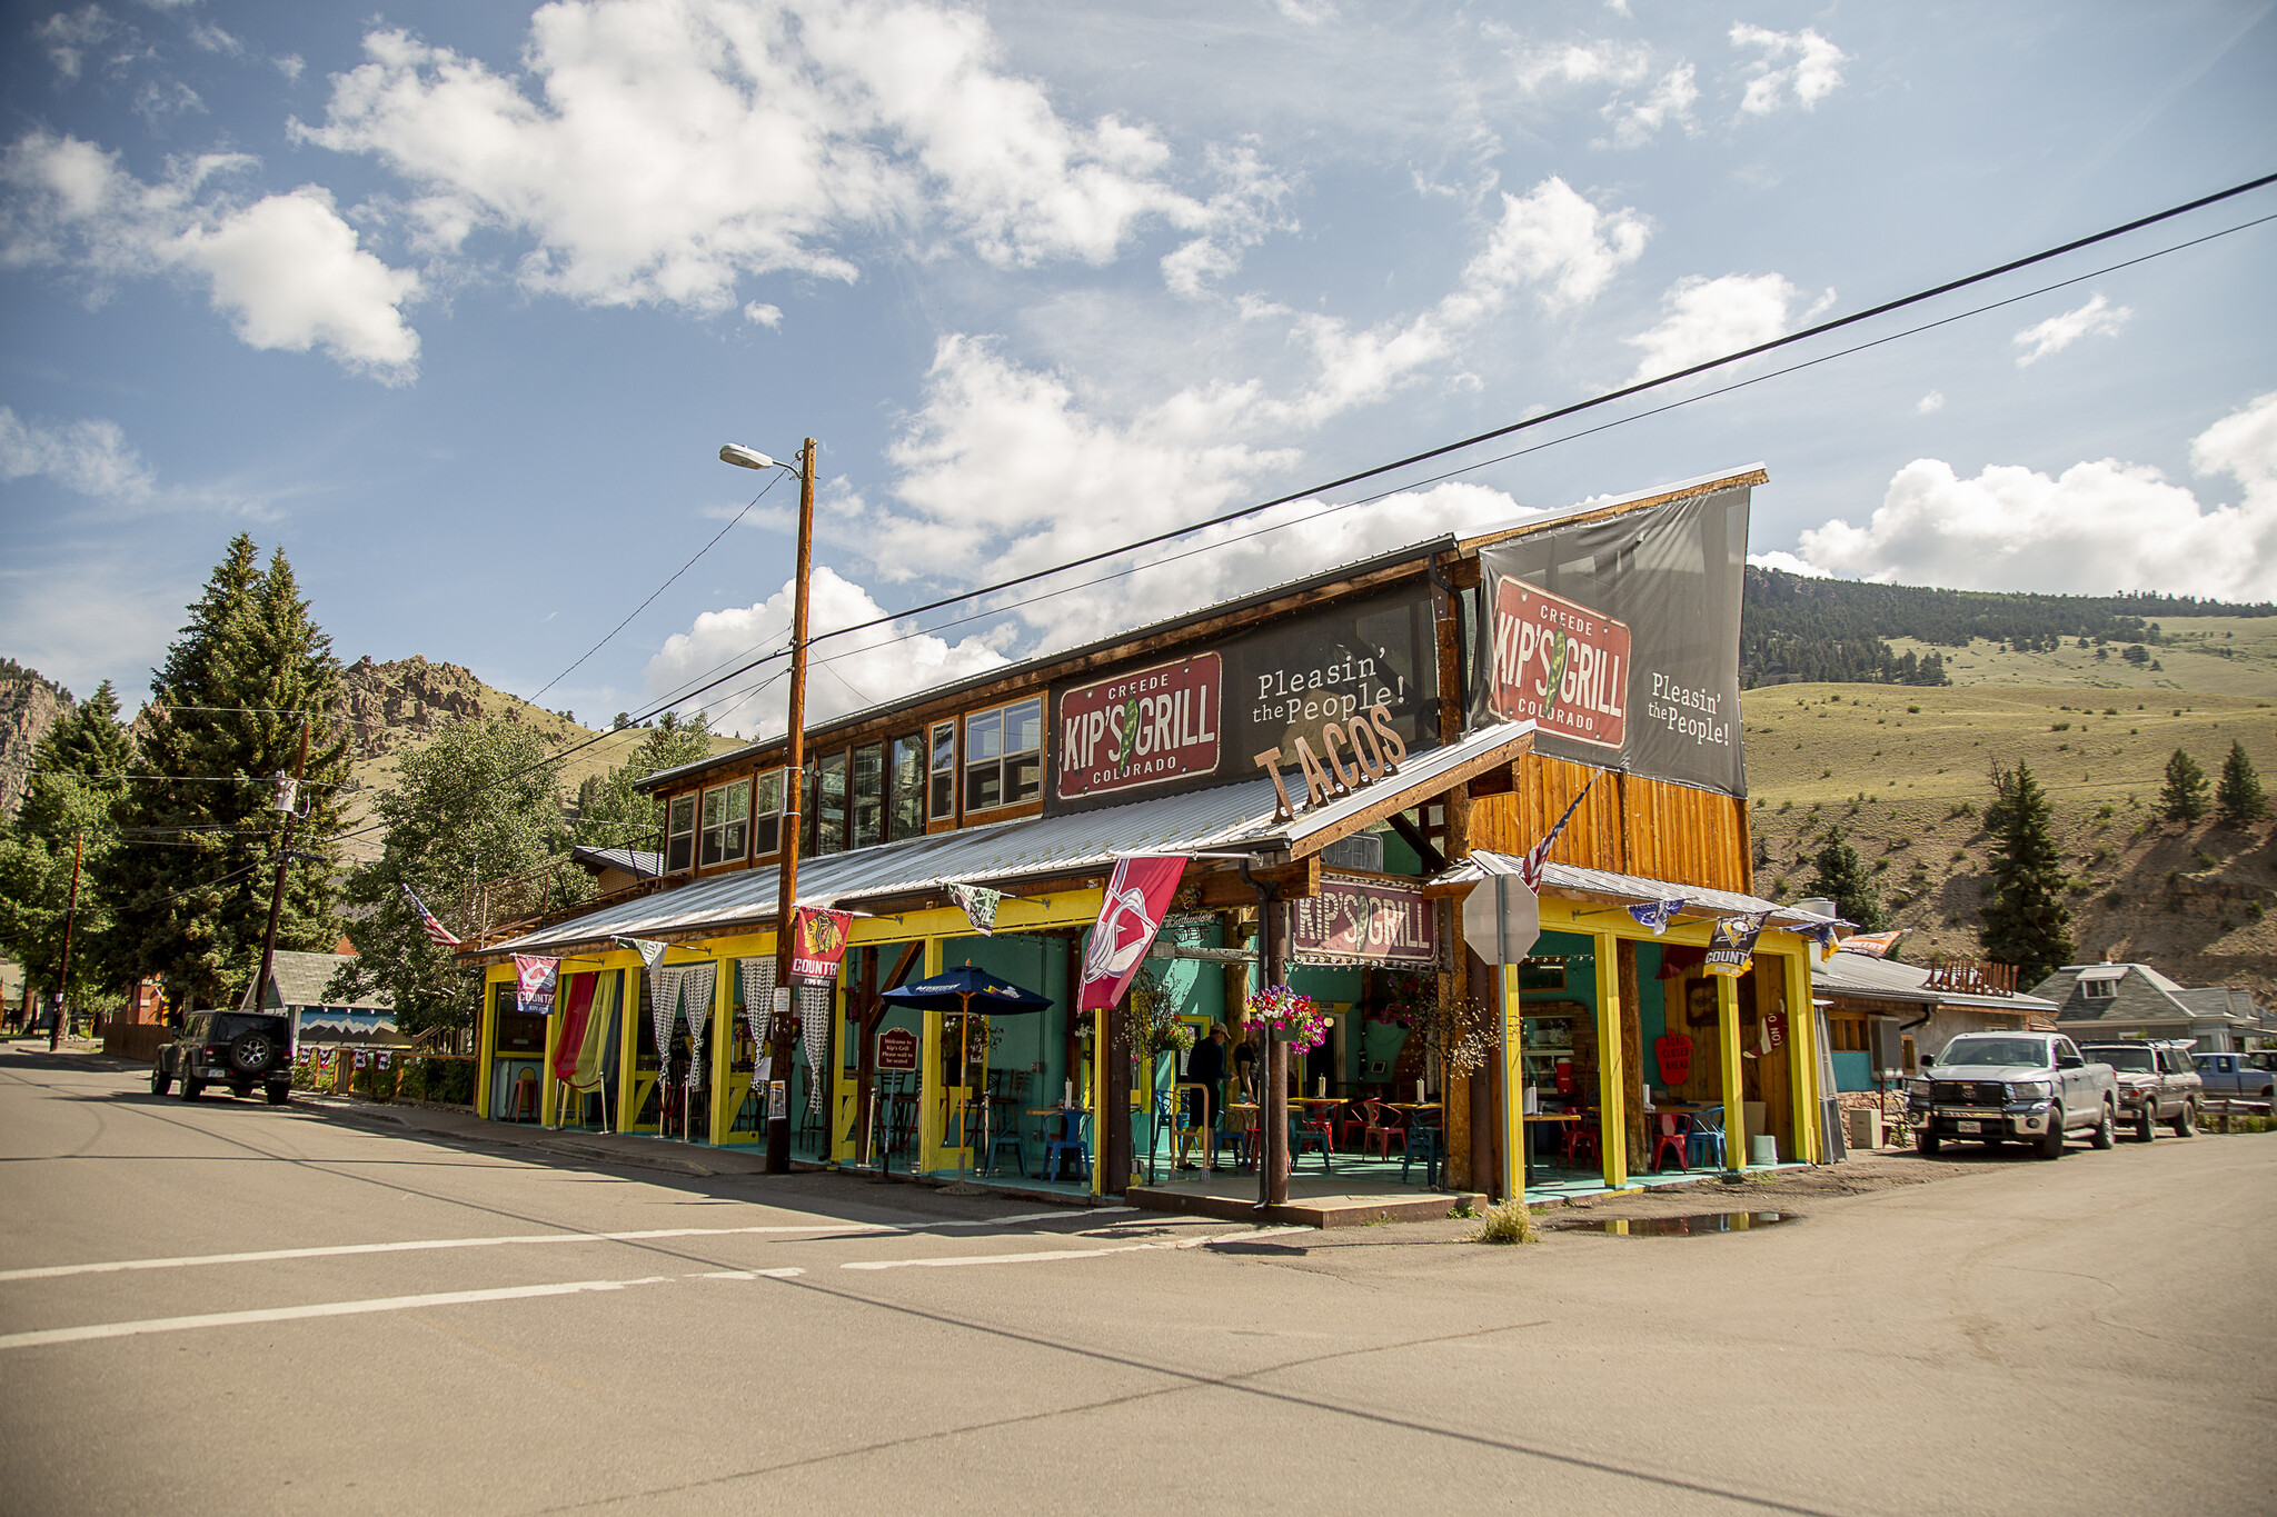
[[[1173,186],[1150,127],[1061,118],[979,14],[924,0],[556,0],[531,20],[531,89],[408,32],[364,55],[298,130],[412,180],[428,246],[526,237],[528,289],[599,305],[717,312],[754,273],[852,280],[840,241],[895,230],[997,266],[1107,264],[1150,225],[1241,225],[1259,193]]]

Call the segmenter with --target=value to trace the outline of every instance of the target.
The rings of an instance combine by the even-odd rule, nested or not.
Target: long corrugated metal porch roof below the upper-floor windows
[[[1277,853],[1332,832],[1366,807],[1394,796],[1432,794],[1432,785],[1439,785],[1441,776],[1464,762],[1489,757],[1530,737],[1530,721],[1505,721],[1469,732],[1460,741],[1409,755],[1398,776],[1302,812],[1296,821],[1275,821],[1273,780],[1259,776],[1236,785],[1107,805],[1070,816],[1029,816],[831,853],[799,862],[799,905],[858,905],[950,882],[984,885],[1107,871],[1125,853]],[[585,917],[487,946],[483,953],[535,953],[608,937],[699,928],[751,926],[765,930],[774,921],[774,867],[740,869],[697,885],[606,905]]]

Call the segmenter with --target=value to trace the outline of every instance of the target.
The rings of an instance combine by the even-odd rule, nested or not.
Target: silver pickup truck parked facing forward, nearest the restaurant
[[[2118,1078],[2090,1064],[2061,1033],[1963,1033],[1906,1085],[1913,1146],[1935,1153],[1945,1139],[2033,1144],[2063,1158],[2070,1133],[2097,1149],[2115,1142]]]

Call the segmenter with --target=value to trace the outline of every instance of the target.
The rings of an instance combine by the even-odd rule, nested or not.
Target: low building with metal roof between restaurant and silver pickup
[[[1963,1033],[2022,1030],[2036,1019],[2049,1026],[2056,1003],[2006,989],[2013,976],[2004,964],[1901,964],[1869,953],[1828,953],[1810,969],[1810,992],[1826,1003],[1835,1089],[1879,1089]]]

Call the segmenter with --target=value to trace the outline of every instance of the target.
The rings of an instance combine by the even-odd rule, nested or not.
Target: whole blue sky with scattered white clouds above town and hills
[[[804,434],[845,625],[2268,173],[2270,9],[7,5],[0,653],[134,698],[250,530],[344,657],[531,696],[749,503],[722,441]],[[2272,264],[2277,223],[1300,503],[849,639],[811,698],[1758,459],[1767,562],[2272,598]],[[542,705],[606,721],[779,644],[790,507],[786,480]],[[779,696],[713,714],[758,730]]]

